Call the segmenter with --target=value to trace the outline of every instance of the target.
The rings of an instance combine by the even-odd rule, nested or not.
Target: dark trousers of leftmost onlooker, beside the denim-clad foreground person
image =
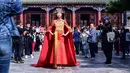
[[[23,44],[21,42],[21,38],[14,39],[14,40],[15,40],[15,42],[13,43],[14,59],[15,61],[21,61],[22,52],[23,52]]]

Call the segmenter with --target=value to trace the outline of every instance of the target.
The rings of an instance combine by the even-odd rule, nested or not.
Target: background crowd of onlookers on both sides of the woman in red
[[[20,37],[13,37],[13,60],[15,63],[24,63],[24,58],[34,58],[34,52],[39,52],[44,41],[44,34],[46,29],[44,27],[31,27],[30,24],[26,26],[17,25],[20,32]],[[108,40],[108,32],[114,32],[113,40]],[[112,38],[112,37],[109,37]],[[106,56],[105,64],[111,64],[112,52],[115,54],[122,54],[121,59],[126,59],[126,55],[130,55],[130,32],[124,27],[121,30],[112,27],[109,19],[100,21],[100,25],[95,27],[91,23],[90,26],[83,26],[80,30],[74,27],[73,40],[75,44],[76,54],[80,52],[85,58],[95,59],[99,48]],[[99,46],[99,44],[101,44]],[[120,53],[121,52],[121,53]]]

